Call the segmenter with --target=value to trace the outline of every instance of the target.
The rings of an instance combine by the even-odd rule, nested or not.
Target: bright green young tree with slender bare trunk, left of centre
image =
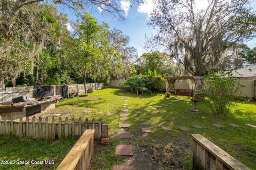
[[[99,25],[95,18],[90,16],[88,12],[84,12],[84,15],[78,20],[76,24],[76,33],[74,35],[74,54],[73,61],[81,67],[84,77],[84,89],[86,89],[86,73],[88,71],[97,72],[99,63],[104,61],[108,57],[106,53],[102,55],[102,51],[107,51],[108,42],[104,41],[104,38],[109,33],[108,25],[102,22]],[[106,59],[107,60],[107,59]],[[93,75],[96,78],[95,74]]]

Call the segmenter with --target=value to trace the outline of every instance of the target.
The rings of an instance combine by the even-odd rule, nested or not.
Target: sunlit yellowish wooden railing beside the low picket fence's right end
[[[88,170],[93,157],[94,130],[86,130],[56,170]]]

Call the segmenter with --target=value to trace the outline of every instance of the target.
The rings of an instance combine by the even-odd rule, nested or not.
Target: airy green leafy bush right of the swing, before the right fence
[[[232,72],[215,73],[204,77],[202,92],[206,103],[215,115],[227,115],[228,110],[236,106],[236,96],[242,94],[240,79],[236,82]]]

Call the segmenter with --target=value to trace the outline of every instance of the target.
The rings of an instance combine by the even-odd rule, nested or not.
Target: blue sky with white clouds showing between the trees
[[[200,3],[202,4],[202,0],[200,0]],[[256,2],[253,1],[252,4],[256,8]],[[130,4],[129,1],[123,1],[120,5],[126,11],[124,14],[126,21],[124,22],[118,21],[117,18],[101,16],[100,13],[90,14],[98,21],[105,21],[108,23],[110,29],[116,28],[121,30],[124,35],[128,35],[130,37],[130,46],[137,49],[139,57],[143,53],[150,52],[150,50],[143,49],[142,46],[146,42],[145,35],[151,37],[151,35],[156,34],[156,30],[147,25],[149,22],[150,11],[154,7],[152,0],[144,0],[144,4],[140,6]],[[256,39],[247,42],[246,44],[252,49],[256,47]]]

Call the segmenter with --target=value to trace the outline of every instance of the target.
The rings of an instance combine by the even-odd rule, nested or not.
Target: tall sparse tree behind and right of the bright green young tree
[[[116,58],[116,61],[112,64],[112,68],[114,68],[111,75],[112,79],[127,79],[129,74],[136,72],[134,62],[138,56],[136,49],[129,46],[130,37],[123,35],[122,31],[114,28],[110,31],[107,41],[114,51],[120,54],[116,55],[116,57],[120,57],[120,59]]]

